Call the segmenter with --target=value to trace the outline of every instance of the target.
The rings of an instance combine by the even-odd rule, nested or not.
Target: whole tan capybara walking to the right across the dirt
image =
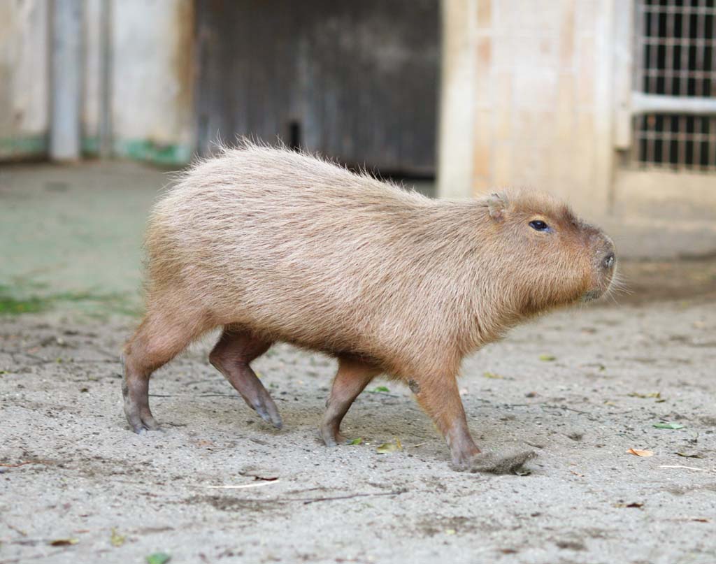
[[[358,394],[410,386],[458,470],[506,472],[530,452],[483,453],[458,393],[467,354],[519,322],[604,294],[614,245],[533,192],[432,200],[299,152],[243,143],[196,163],[155,205],[146,315],[125,346],[125,413],[158,429],[152,371],[211,329],[209,360],[281,427],[251,361],[276,341],[338,359],[320,434],[342,442]],[[499,452],[499,451],[497,451]]]

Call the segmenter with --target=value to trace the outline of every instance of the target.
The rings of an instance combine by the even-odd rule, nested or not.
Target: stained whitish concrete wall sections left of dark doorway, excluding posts
[[[99,146],[102,0],[83,19],[82,149]],[[112,0],[115,155],[167,164],[193,152],[193,1]],[[0,160],[47,155],[52,2],[0,0]]]

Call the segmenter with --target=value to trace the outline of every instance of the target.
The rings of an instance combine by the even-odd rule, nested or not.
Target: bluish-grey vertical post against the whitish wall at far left
[[[52,160],[79,160],[82,104],[82,3],[52,2],[50,139]]]

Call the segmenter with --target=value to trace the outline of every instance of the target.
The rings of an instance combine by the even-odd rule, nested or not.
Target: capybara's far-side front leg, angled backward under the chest
[[[350,409],[354,399],[378,374],[380,374],[380,370],[370,364],[348,357],[339,359],[338,372],[333,381],[331,395],[326,402],[323,422],[321,422],[321,439],[326,446],[335,447],[336,444],[345,442],[340,433],[343,417]]]

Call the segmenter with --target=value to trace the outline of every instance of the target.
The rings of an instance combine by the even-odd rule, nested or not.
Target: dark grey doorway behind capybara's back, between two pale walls
[[[438,0],[196,0],[198,150],[246,135],[435,173]]]

